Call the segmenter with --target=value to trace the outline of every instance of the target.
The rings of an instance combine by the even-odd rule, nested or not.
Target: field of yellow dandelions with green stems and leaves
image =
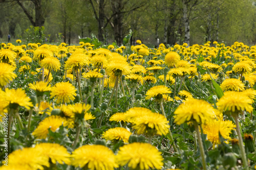
[[[256,46],[16,43],[1,170],[256,168]]]

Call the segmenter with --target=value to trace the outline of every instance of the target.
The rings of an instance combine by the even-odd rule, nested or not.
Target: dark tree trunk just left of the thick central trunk
[[[98,38],[99,41],[104,41],[104,0],[99,0],[99,18],[98,18]]]

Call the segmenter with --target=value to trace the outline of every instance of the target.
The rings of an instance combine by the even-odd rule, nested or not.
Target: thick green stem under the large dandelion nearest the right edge
[[[239,122],[238,122],[238,113],[233,114],[233,116],[234,116],[234,121],[236,122],[236,130],[237,130],[237,133],[238,133],[239,147],[240,147],[240,150],[241,150],[243,167],[245,169],[248,169],[248,162],[247,162],[247,158],[246,158],[246,155],[245,155],[245,150],[244,150],[244,147],[243,147],[243,139],[242,139],[242,135],[241,135],[240,127],[239,127]]]

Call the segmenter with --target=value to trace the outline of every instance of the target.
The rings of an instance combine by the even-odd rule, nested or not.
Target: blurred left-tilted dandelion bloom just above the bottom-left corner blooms
[[[49,133],[49,128],[51,131],[55,132],[61,125],[68,126],[68,122],[65,118],[56,115],[46,117],[39,123],[32,135],[37,139],[45,139]]]

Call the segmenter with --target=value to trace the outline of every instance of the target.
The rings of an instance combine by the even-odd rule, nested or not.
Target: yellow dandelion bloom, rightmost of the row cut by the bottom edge
[[[161,169],[163,166],[161,154],[149,143],[134,142],[119,148],[116,161],[120,166],[127,164],[132,169]]]

